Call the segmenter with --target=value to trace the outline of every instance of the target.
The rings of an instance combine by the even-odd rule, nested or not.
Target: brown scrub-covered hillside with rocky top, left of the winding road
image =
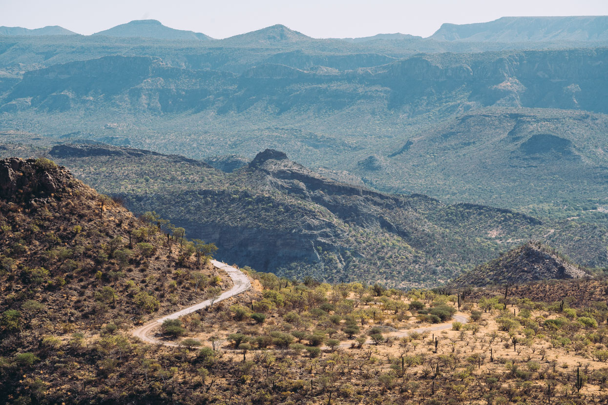
[[[46,361],[49,347],[80,348],[102,327],[112,334],[202,301],[212,282],[230,287],[181,234],[145,219],[50,160],[0,161],[2,401],[22,378],[11,365],[19,353]]]

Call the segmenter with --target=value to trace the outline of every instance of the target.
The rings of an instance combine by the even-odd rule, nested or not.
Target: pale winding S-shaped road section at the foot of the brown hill
[[[226,273],[228,273],[234,284],[233,287],[230,288],[230,290],[224,291],[215,301],[213,301],[214,303],[223,301],[224,299],[243,293],[244,291],[247,291],[249,290],[249,288],[251,288],[251,283],[249,282],[249,279],[242,271],[238,270],[238,268],[229,266],[222,262],[218,262],[218,260],[211,260],[211,264],[213,264],[213,266],[219,268],[220,270],[226,271]],[[134,329],[133,331],[131,331],[131,333],[133,333],[133,336],[136,336],[136,338],[140,338],[142,339],[142,341],[147,343],[178,347],[179,344],[176,342],[162,341],[153,338],[152,336],[149,336],[149,334],[153,329],[159,327],[162,322],[166,321],[167,319],[178,319],[184,315],[188,315],[189,313],[193,313],[195,311],[201,310],[202,308],[209,307],[209,305],[211,305],[211,300],[206,299],[205,301],[199,302],[198,304],[192,305],[174,313],[170,313],[169,315],[165,315],[162,318],[154,319],[154,321],[150,321],[142,327]]]

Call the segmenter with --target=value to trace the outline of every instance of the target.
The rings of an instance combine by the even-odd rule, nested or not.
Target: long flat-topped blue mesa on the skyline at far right
[[[437,41],[601,41],[608,39],[608,16],[502,17],[475,24],[443,24]]]

